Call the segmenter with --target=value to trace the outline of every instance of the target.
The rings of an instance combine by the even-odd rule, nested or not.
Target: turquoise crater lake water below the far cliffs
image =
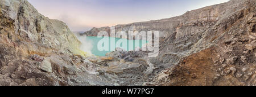
[[[86,41],[92,42],[93,49],[92,54],[96,56],[105,56],[108,52],[112,52],[115,48],[119,47],[126,51],[135,50],[135,48],[141,48],[142,45],[146,44],[146,40],[129,40],[123,38],[113,38],[113,37],[86,37]],[[104,43],[106,42],[105,46]],[[98,44],[100,48],[98,48]],[[105,47],[105,48],[104,48]],[[104,49],[104,50],[103,50]],[[103,51],[102,51],[103,50]]]

